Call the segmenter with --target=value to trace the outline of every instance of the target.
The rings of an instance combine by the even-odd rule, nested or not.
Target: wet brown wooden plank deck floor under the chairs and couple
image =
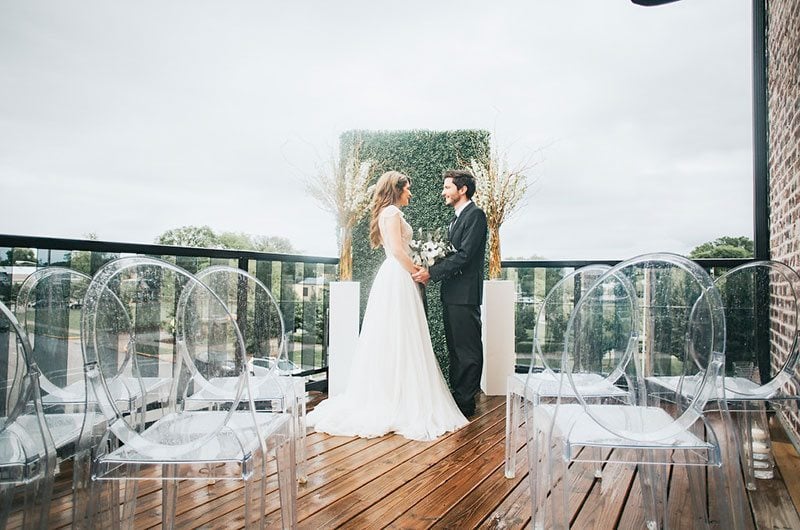
[[[525,450],[517,476],[503,475],[505,399],[483,396],[475,418],[435,442],[392,435],[377,439],[308,436],[308,483],[300,485],[299,528],[525,528],[530,504]],[[800,457],[775,430],[776,477],[749,492],[752,528],[800,528]],[[785,477],[785,478],[784,478]],[[56,484],[51,527],[69,525],[70,473]],[[632,466],[618,465],[602,481],[587,479],[575,502],[574,528],[641,528],[638,482]],[[681,520],[688,492],[673,480],[673,524]],[[680,486],[683,484],[683,486]],[[160,486],[142,482],[136,528],[160,526]],[[601,490],[602,494],[601,494]],[[242,526],[242,490],[236,482],[187,481],[179,490],[177,525],[184,528]],[[267,496],[268,527],[280,526],[274,485]],[[672,513],[672,512],[671,512]],[[12,521],[13,522],[13,521]]]

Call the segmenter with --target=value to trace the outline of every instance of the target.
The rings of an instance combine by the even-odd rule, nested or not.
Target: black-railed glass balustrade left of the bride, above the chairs
[[[336,279],[337,258],[0,235],[0,301],[13,309],[20,285],[36,268],[61,266],[93,275],[104,263],[131,255],[163,259],[189,272],[211,265],[250,272],[270,288],[280,306],[289,332],[289,359],[300,367],[298,375],[327,370],[328,285]],[[310,381],[309,386],[325,383]]]

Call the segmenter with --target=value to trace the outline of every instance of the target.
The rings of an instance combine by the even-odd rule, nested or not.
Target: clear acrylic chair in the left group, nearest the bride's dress
[[[305,382],[291,375],[295,367],[287,355],[286,329],[277,301],[261,280],[236,267],[212,266],[195,273],[195,277],[214,291],[239,324],[247,346],[247,362],[252,375],[250,390],[256,406],[266,410],[279,406],[292,414],[297,440],[297,479],[305,483]],[[178,325],[182,325],[183,315],[182,308],[178,307]],[[220,401],[220,388],[228,388],[229,396],[233,397],[235,378],[223,375],[207,381],[193,365],[187,368],[198,387],[189,397],[190,401],[202,403],[209,398]],[[280,388],[271,386],[275,381]],[[287,402],[278,405],[284,396]]]

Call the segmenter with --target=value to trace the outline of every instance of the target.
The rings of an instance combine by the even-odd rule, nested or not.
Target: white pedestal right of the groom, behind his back
[[[487,396],[505,396],[506,378],[514,373],[514,300],[511,280],[483,282],[483,375],[481,390]]]

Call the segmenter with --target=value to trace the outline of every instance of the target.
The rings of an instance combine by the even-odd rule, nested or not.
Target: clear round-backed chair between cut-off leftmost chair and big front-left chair
[[[91,487],[90,461],[93,443],[105,432],[105,419],[93,413],[96,403],[87,404],[85,360],[81,343],[81,311],[91,278],[63,267],[46,267],[29,275],[20,286],[17,314],[33,346],[33,358],[42,372],[45,418],[58,449],[59,462],[73,458],[73,526],[85,526],[88,492]],[[117,407],[131,416],[138,428],[144,426],[148,406],[159,404],[169,391],[170,380],[133,374],[132,354],[136,350],[130,315],[123,302],[110,293],[103,299],[102,318],[113,325],[99,326],[107,336],[96,336],[105,381]],[[88,415],[87,415],[88,411]]]

